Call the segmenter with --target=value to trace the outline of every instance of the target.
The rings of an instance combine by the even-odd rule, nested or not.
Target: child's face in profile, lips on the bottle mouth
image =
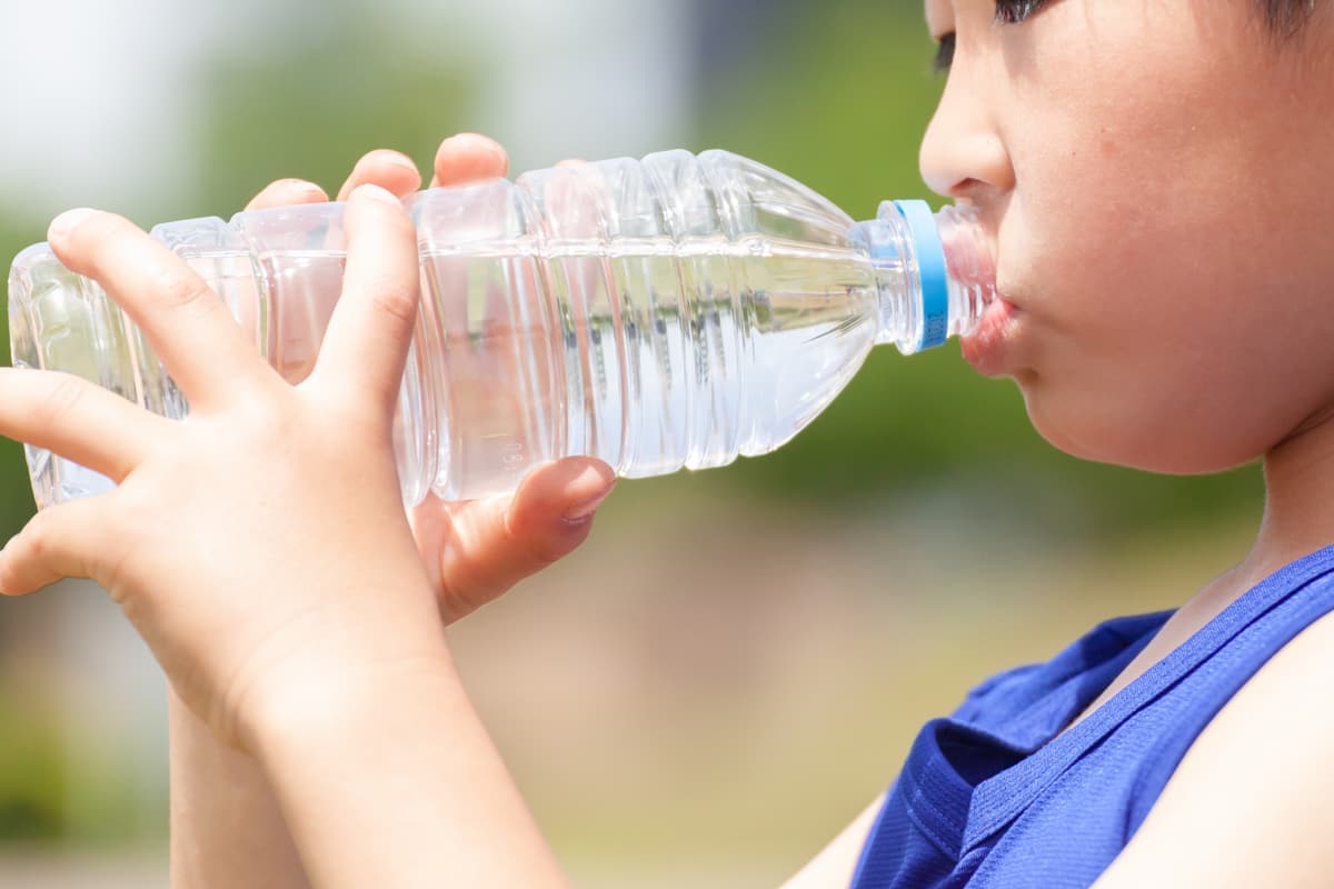
[[[982,209],[1014,305],[966,351],[1043,436],[1207,472],[1334,405],[1329,5],[1291,43],[1253,0],[926,5],[956,48],[923,175]]]

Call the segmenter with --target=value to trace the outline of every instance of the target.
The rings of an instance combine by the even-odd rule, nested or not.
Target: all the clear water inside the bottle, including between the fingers
[[[315,365],[340,252],[187,260],[289,383]],[[259,268],[256,268],[256,265]],[[40,268],[39,268],[40,267]],[[92,283],[29,267],[15,363],[60,368],[168,417],[188,405]],[[774,237],[512,243],[423,255],[423,304],[396,423],[408,500],[512,490],[567,454],[627,477],[772,450],[842,389],[875,339],[874,276],[854,251]],[[40,502],[109,481],[29,448]],[[45,492],[45,493],[41,493]]]

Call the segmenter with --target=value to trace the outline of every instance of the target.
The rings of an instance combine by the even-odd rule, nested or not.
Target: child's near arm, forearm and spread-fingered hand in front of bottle
[[[173,423],[73,377],[4,369],[0,431],[120,484],[35,517],[0,556],[0,588],[100,581],[191,712],[259,756],[320,882],[560,885],[458,686],[399,501],[390,429],[414,232],[367,189],[347,225],[344,295],[293,388],[143,232],[57,220],[57,256],[129,312],[192,409]]]

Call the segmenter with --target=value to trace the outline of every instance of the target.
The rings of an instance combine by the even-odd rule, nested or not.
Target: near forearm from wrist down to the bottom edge
[[[256,713],[251,742],[312,884],[567,885],[443,646],[293,682]]]

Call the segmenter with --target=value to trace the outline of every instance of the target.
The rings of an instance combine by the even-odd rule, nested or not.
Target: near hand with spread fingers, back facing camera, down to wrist
[[[297,387],[183,260],[95,211],[57,219],[51,247],[139,325],[189,416],[165,420],[69,375],[0,371],[0,433],[117,482],[35,516],[0,553],[0,590],[96,580],[191,710],[245,748],[275,708],[364,694],[447,657],[390,446],[415,232],[374,185],[350,195],[346,227],[343,295]]]

